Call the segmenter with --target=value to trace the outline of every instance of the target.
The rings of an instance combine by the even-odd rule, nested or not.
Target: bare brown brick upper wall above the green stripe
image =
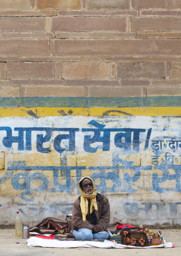
[[[181,94],[179,0],[1,0],[0,6],[1,107],[24,107],[25,97],[36,107],[35,96]]]

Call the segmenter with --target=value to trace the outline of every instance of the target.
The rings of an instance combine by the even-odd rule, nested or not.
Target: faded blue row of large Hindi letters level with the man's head
[[[74,189],[77,189],[77,193],[79,193],[78,189],[78,181],[82,176],[83,170],[93,171],[93,174],[90,175],[93,180],[97,182],[99,180],[99,184],[96,184],[96,187],[100,193],[135,193],[138,189],[136,187],[141,188],[134,183],[140,179],[140,170],[151,170],[152,166],[136,166],[133,165],[133,162],[125,161],[122,159],[116,159],[114,157],[113,164],[117,161],[117,165],[113,166],[95,166],[95,167],[86,167],[86,166],[9,166],[7,171],[12,170],[21,170],[22,173],[15,174],[11,178],[12,187],[16,190],[24,190],[21,193],[21,198],[26,201],[33,201],[34,199],[31,197],[27,197],[27,195],[32,195],[37,191],[48,191],[51,193],[54,192],[65,192],[67,194],[73,193]],[[122,164],[122,165],[119,165]],[[169,168],[175,170],[175,174],[169,173]],[[133,175],[130,175],[127,170],[131,170]],[[180,186],[180,169],[181,165],[155,165],[155,170],[162,171],[162,177],[158,177],[157,173],[152,173],[152,188],[142,187],[141,189],[145,191],[153,190],[157,193],[163,193],[164,191],[175,191],[181,192]],[[27,173],[30,170],[51,170],[53,177],[53,186],[54,188],[48,187],[48,178],[41,173]],[[71,170],[76,170],[76,183],[74,179],[71,177]],[[119,171],[123,172],[123,176],[119,175]],[[60,171],[60,173],[59,173]],[[62,175],[63,174],[63,175]],[[65,174],[65,176],[64,176]],[[20,183],[20,180],[24,180],[24,182]],[[38,185],[37,188],[31,188],[31,181],[39,180],[41,181],[41,185]],[[112,182],[112,185],[107,186],[107,180]],[[167,188],[161,187],[160,184],[163,184],[165,180],[175,180],[176,186],[175,188]],[[60,183],[61,181],[61,183]],[[62,184],[63,182],[63,184]]]

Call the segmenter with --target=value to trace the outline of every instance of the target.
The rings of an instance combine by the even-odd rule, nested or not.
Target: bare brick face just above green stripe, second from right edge
[[[86,86],[85,97],[145,96],[142,86]]]

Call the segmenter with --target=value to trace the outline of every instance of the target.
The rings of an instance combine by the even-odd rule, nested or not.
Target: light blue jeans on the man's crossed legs
[[[79,240],[89,241],[91,239],[108,239],[109,234],[106,231],[94,233],[90,229],[79,229],[78,231],[73,230],[72,234]]]

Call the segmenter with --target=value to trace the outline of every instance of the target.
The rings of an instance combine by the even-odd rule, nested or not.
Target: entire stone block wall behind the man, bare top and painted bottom
[[[70,213],[84,175],[180,223],[180,25],[180,0],[0,0],[0,225]]]

